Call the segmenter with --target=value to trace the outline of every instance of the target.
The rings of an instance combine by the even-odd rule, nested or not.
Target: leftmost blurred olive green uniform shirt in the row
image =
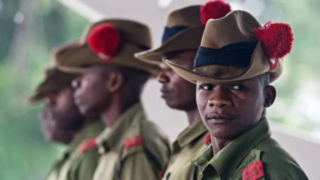
[[[101,121],[96,121],[81,130],[53,165],[46,180],[91,180],[99,154],[95,150],[79,153],[78,147],[83,140],[95,137],[103,129],[104,124]]]

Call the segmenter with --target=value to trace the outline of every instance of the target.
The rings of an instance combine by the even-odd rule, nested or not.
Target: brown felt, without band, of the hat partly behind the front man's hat
[[[172,35],[159,47],[137,52],[134,56],[147,63],[161,64],[162,57],[167,52],[197,50],[204,30],[204,25],[201,24],[200,6],[190,5],[171,11],[166,18],[165,27],[186,26],[186,28]]]

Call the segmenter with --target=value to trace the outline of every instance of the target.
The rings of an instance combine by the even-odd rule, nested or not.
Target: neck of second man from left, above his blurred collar
[[[138,100],[137,100],[138,101]],[[134,103],[137,101],[132,101],[130,103],[121,103],[120,101],[114,101],[111,103],[110,107],[101,113],[100,117],[106,127],[112,127],[117,119]]]

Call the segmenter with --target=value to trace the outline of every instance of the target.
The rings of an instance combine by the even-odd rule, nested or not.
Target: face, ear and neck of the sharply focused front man
[[[252,128],[275,100],[275,88],[258,77],[245,80],[197,82],[196,101],[211,134],[213,154]]]

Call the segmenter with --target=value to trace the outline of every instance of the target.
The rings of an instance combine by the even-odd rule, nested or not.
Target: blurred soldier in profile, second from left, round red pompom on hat
[[[151,46],[142,23],[107,19],[91,24],[80,47],[59,64],[63,71],[81,73],[72,82],[83,114],[99,114],[106,128],[87,141],[86,149],[101,153],[94,180],[159,179],[170,155],[168,138],[147,120],[140,94],[160,67],[133,57]],[[82,51],[82,54],[77,53]]]

